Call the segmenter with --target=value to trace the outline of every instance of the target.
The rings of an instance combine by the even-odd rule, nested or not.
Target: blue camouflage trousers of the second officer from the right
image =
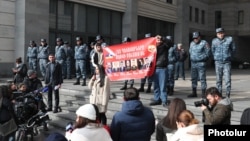
[[[207,88],[205,62],[191,62],[192,88],[197,88],[198,78],[200,79],[201,82],[201,89],[205,90]]]

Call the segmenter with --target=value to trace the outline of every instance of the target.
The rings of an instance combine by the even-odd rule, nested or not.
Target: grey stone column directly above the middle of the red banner
[[[122,19],[122,37],[137,40],[138,0],[126,0],[126,10]]]

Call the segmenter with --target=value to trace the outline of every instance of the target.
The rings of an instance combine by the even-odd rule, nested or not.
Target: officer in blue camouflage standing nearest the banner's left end
[[[80,78],[82,77],[82,86],[86,86],[86,61],[89,59],[88,46],[83,44],[81,37],[76,37],[75,46],[75,65],[76,65],[76,82],[73,85],[80,85]]]

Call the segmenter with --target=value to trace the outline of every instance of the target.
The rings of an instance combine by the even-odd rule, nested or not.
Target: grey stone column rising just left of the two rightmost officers
[[[189,49],[189,1],[177,1],[177,23],[175,25],[175,42],[182,43],[183,48],[188,52]],[[175,1],[175,2],[176,2]],[[185,68],[188,68],[188,59],[185,61]]]

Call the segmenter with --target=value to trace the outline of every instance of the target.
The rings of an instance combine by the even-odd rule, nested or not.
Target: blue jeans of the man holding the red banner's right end
[[[166,83],[168,80],[167,68],[156,68],[153,75],[154,80],[154,100],[167,102],[167,88]]]

